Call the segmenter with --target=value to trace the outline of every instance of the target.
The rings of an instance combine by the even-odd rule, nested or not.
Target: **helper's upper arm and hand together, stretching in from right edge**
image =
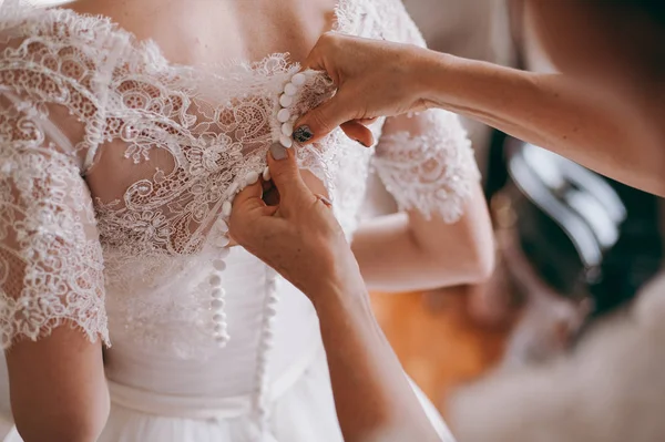
[[[657,74],[634,78],[632,89],[600,93],[570,75],[336,34],[319,40],[306,65],[327,71],[340,85],[334,99],[296,123],[313,134],[306,142],[347,121],[442,107],[665,195],[665,92]]]

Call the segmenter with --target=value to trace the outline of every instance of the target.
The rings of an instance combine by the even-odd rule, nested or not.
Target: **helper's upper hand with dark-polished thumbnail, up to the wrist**
[[[426,66],[433,54],[410,44],[324,34],[303,66],[326,71],[338,91],[298,120],[294,138],[310,143],[344,124],[347,134],[371,144],[365,121],[428,107]]]

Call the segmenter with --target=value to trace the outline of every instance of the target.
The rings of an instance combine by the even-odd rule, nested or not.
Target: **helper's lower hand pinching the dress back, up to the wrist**
[[[310,298],[330,286],[361,284],[332,209],[303,181],[293,148],[274,146],[268,167],[279,194],[278,205],[269,206],[262,198],[262,183],[241,192],[229,222],[233,239]]]

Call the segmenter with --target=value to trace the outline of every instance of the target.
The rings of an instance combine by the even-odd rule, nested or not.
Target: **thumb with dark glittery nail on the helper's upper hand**
[[[339,89],[337,94],[300,116],[294,130],[294,140],[300,144],[314,143],[332,132],[337,126],[354,120],[355,115],[344,100],[344,90]],[[345,104],[346,103],[346,104]]]

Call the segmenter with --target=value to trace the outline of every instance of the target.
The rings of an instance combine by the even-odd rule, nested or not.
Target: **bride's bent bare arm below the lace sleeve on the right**
[[[368,287],[390,292],[475,284],[494,265],[491,222],[479,186],[454,224],[416,210],[381,216],[360,225],[351,248]]]

